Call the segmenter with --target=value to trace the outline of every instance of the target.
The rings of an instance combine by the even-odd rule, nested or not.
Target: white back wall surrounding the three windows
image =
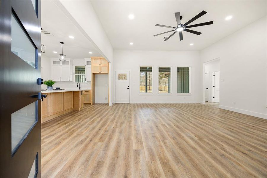
[[[198,51],[114,51],[115,71],[130,71],[130,103],[199,103]],[[139,66],[153,66],[153,95],[139,94]],[[158,94],[158,66],[172,66],[172,95]],[[177,66],[191,66],[191,93],[177,95]],[[114,77],[115,78],[115,77]],[[113,89],[114,90],[114,89]]]

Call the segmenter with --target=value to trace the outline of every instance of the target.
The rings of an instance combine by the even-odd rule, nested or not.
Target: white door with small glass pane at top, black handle
[[[115,102],[130,103],[130,72],[115,71]]]

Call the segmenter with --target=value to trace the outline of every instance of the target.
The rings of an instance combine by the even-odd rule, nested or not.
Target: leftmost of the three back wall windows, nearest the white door
[[[140,67],[140,93],[152,93],[152,67]]]

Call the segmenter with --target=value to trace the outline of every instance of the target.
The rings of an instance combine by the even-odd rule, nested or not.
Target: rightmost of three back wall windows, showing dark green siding
[[[190,67],[177,67],[177,93],[190,93]]]

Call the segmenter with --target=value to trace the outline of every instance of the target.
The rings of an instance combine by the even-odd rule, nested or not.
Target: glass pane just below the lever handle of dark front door
[[[37,101],[11,114],[12,155],[37,122]]]

